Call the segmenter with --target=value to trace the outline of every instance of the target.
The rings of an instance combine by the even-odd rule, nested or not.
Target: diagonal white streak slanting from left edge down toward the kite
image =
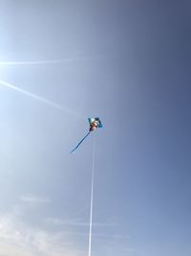
[[[3,84],[3,85],[5,85],[6,87],[11,88],[12,90],[21,92],[22,94],[25,94],[25,95],[31,97],[32,99],[34,99],[34,100],[36,100],[36,101],[39,101],[39,102],[44,103],[44,104],[47,104],[47,105],[51,105],[51,106],[53,106],[53,107],[55,107],[55,108],[57,108],[57,109],[63,110],[63,111],[65,111],[65,112],[69,113],[69,114],[73,114],[73,115],[75,115],[75,116],[77,116],[77,117],[82,118],[82,116],[80,116],[78,113],[74,112],[73,110],[68,109],[68,108],[65,107],[65,106],[55,104],[55,103],[53,103],[53,102],[51,102],[51,101],[49,101],[49,100],[46,100],[46,99],[44,99],[43,97],[38,96],[38,95],[36,95],[36,94],[34,94],[34,93],[32,93],[32,92],[26,91],[26,90],[24,90],[24,89],[21,89],[21,88],[15,86],[15,85],[12,85],[11,83],[9,83],[9,82],[7,82],[7,81],[2,81],[2,80],[0,80],[0,83]]]

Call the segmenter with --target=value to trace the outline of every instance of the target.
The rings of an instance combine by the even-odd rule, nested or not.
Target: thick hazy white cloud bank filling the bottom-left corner
[[[32,228],[11,214],[0,216],[0,255],[82,256],[76,242],[63,232]]]

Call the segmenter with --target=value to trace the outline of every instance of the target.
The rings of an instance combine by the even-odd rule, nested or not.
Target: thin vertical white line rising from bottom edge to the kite
[[[93,227],[93,207],[94,207],[94,183],[95,183],[95,139],[93,136],[93,165],[92,165],[92,185],[91,185],[91,203],[90,203],[90,232],[89,232],[89,251],[88,256],[92,254],[92,227]]]

